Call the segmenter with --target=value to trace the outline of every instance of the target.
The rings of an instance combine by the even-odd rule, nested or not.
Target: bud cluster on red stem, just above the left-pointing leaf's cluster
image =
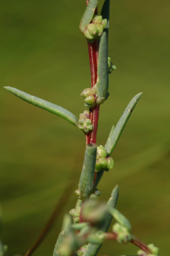
[[[96,106],[97,86],[94,86],[92,88],[85,88],[81,92],[81,96],[84,99],[85,106],[87,108],[93,108],[94,106]]]

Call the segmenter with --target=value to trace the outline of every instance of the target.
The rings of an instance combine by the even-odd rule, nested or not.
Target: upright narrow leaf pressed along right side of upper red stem
[[[108,35],[104,30],[99,44],[99,60],[97,65],[97,95],[102,100],[108,98]]]

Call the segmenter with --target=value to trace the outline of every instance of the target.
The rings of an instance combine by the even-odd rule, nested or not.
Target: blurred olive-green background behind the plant
[[[103,1],[100,1],[100,4]],[[8,255],[35,241],[62,195],[70,173],[78,183],[85,138],[73,125],[3,90],[13,86],[72,111],[84,109],[80,92],[90,86],[87,43],[78,30],[85,0],[3,1],[0,10],[1,238]],[[132,232],[169,254],[169,0],[111,1],[109,55],[117,70],[101,108],[98,144],[104,144],[127,103],[136,106],[113,154],[115,167],[99,189],[107,200],[120,186],[118,209]],[[74,189],[76,189],[75,186]],[[34,255],[52,255],[62,216]],[[104,243],[99,255],[136,253],[134,246]]]

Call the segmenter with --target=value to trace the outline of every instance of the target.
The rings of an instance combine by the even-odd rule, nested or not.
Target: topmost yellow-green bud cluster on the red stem
[[[92,22],[87,25],[87,28],[85,28],[85,37],[91,41],[95,40],[98,36],[101,36],[103,29],[106,28],[106,25],[107,19],[103,19],[101,15],[94,16]]]

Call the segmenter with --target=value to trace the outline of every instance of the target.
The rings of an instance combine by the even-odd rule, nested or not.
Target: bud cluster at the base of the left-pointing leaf
[[[80,114],[80,119],[78,120],[78,128],[85,133],[89,133],[89,131],[92,131],[93,129],[93,125],[89,117],[89,111],[85,110]]]

